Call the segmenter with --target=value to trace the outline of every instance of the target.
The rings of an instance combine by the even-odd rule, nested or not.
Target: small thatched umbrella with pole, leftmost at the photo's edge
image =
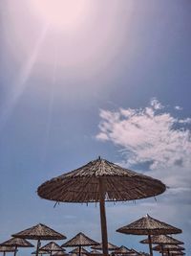
[[[10,240],[0,244],[14,247],[14,256],[16,256],[17,247],[33,247],[33,244],[22,238],[11,238]]]

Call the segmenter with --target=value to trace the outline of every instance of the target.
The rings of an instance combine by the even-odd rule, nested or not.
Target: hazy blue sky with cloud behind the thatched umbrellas
[[[0,239],[43,222],[100,241],[98,207],[36,195],[100,155],[170,187],[157,202],[108,203],[109,240],[148,251],[115,230],[149,213],[183,229],[188,253],[191,2],[69,2],[59,22],[60,1],[49,15],[35,0],[0,3]]]

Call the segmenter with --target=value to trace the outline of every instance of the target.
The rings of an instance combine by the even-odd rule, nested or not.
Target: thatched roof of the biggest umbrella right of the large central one
[[[159,234],[177,234],[181,230],[165,222],[151,218],[149,215],[134,221],[126,226],[117,229],[117,232],[133,235],[159,235]]]

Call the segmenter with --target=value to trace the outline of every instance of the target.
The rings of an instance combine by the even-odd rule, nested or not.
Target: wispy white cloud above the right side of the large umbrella
[[[144,108],[100,110],[100,117],[96,138],[119,146],[123,165],[146,164],[172,194],[190,192],[191,118],[173,117],[155,98]]]

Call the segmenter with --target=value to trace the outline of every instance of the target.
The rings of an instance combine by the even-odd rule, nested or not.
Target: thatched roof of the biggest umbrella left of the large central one
[[[45,224],[39,223],[30,228],[27,228],[19,233],[13,234],[12,237],[26,238],[32,240],[62,240],[66,237]]]

